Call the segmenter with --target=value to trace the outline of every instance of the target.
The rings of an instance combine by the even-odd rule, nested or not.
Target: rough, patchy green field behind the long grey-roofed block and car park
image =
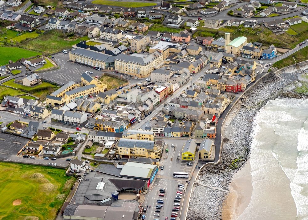
[[[47,34],[40,35],[31,41],[22,44],[23,48],[36,50],[45,54],[52,54],[63,49],[69,49],[72,45],[80,41],[89,40],[87,36],[78,38],[76,36],[67,37],[61,30],[51,30]]]

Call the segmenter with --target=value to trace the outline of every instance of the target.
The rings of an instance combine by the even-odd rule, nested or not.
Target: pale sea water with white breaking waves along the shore
[[[308,100],[271,100],[254,125],[252,197],[238,219],[308,219]]]

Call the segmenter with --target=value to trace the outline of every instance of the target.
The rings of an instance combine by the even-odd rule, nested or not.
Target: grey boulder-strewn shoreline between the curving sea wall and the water
[[[283,73],[279,77],[271,75],[247,96],[246,105],[250,109],[241,108],[225,128],[221,163],[217,166],[206,166],[201,170],[198,182],[223,190],[229,189],[233,175],[249,159],[249,147],[252,141],[250,133],[257,112],[271,99],[306,98],[305,95],[294,93],[292,86],[290,87],[298,80],[298,74],[303,73],[305,73],[304,70],[299,70],[293,73]],[[288,89],[285,89],[287,87]],[[187,219],[222,219],[222,204],[227,195],[225,191],[196,185],[190,200]]]

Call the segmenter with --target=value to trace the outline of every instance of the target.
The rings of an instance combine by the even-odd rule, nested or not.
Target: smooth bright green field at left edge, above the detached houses
[[[41,55],[36,51],[25,50],[19,47],[0,47],[0,65],[9,63],[9,60],[13,62],[21,59]]]

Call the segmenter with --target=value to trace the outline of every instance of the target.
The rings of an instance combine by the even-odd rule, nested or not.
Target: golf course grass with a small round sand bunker
[[[0,163],[0,218],[55,219],[75,178],[63,169]]]

